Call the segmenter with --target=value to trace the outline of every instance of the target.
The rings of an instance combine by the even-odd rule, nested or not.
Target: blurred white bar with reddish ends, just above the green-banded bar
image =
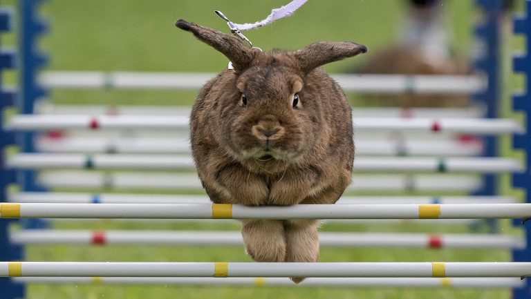
[[[62,136],[53,132],[37,138],[35,147],[43,153],[190,153],[188,139],[179,137],[91,137]],[[444,155],[474,156],[483,153],[481,140],[409,140],[409,139],[357,139],[356,155]]]

